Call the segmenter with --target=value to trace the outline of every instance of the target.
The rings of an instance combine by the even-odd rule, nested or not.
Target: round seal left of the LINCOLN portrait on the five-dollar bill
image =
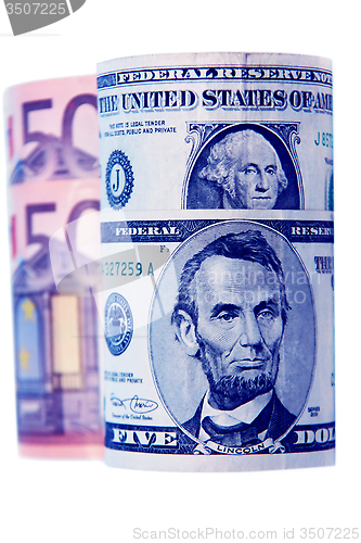
[[[127,300],[113,292],[105,304],[105,340],[114,356],[128,348],[133,334],[133,317]]]

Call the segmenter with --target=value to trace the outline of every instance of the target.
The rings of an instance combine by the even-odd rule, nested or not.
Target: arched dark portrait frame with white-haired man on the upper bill
[[[189,134],[194,144],[184,182],[184,207],[304,207],[296,124],[193,123]]]

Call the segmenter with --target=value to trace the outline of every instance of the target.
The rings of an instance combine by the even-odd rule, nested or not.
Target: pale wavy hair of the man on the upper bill
[[[279,180],[279,194],[284,190],[288,180],[282,168],[281,161],[273,146],[261,135],[255,130],[246,129],[237,132],[232,132],[215,143],[207,159],[205,166],[199,177],[208,181],[216,182],[218,186],[227,190],[231,198],[235,198],[235,173],[237,162],[242,157],[242,149],[245,144],[252,147],[252,140],[266,142],[274,152],[276,163],[276,175]]]

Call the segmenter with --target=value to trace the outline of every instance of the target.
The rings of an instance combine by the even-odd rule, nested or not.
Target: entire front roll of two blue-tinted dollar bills
[[[331,62],[116,59],[98,109],[107,464],[333,464]]]

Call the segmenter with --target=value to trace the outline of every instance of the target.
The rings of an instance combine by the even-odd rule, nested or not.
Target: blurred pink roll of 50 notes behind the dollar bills
[[[10,88],[4,117],[20,453],[102,457],[96,275],[53,273],[99,258],[95,77]]]

